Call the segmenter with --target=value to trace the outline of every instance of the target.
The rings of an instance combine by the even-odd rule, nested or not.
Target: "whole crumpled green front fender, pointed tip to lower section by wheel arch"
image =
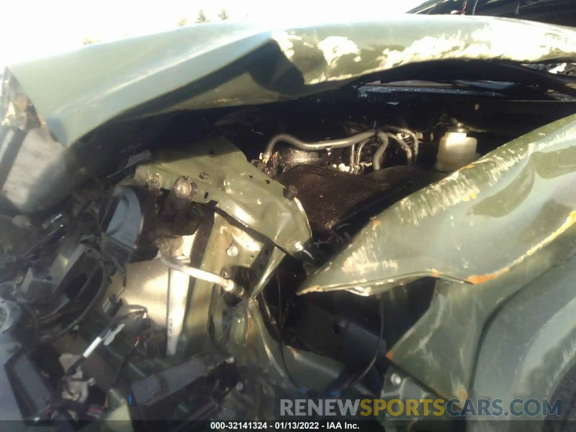
[[[312,276],[300,294],[348,289],[370,295],[436,276],[429,310],[388,358],[439,395],[465,399],[491,314],[574,255],[575,184],[573,115],[396,203]]]

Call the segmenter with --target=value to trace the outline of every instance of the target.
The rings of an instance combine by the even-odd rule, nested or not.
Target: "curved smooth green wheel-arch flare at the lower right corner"
[[[552,399],[556,386],[576,361],[574,287],[576,259],[571,259],[535,279],[502,306],[480,343],[473,398],[502,399],[504,407],[515,398]],[[566,410],[570,400],[564,403]],[[503,417],[498,430],[542,430],[543,416],[520,419],[534,421],[506,422],[512,418]],[[486,430],[484,419],[478,420],[468,429]]]

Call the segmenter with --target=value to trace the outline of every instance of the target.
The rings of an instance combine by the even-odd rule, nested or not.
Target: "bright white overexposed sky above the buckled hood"
[[[204,10],[211,21],[226,9],[230,20],[270,25],[309,20],[352,21],[404,13],[423,0],[0,0],[0,69],[10,63],[69,51],[86,37],[111,41],[193,24]]]

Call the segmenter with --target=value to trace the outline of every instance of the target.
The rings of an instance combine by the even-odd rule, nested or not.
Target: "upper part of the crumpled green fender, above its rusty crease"
[[[575,182],[573,115],[397,202],[300,294],[347,289],[371,295],[422,276],[469,285],[498,279],[574,224]]]

